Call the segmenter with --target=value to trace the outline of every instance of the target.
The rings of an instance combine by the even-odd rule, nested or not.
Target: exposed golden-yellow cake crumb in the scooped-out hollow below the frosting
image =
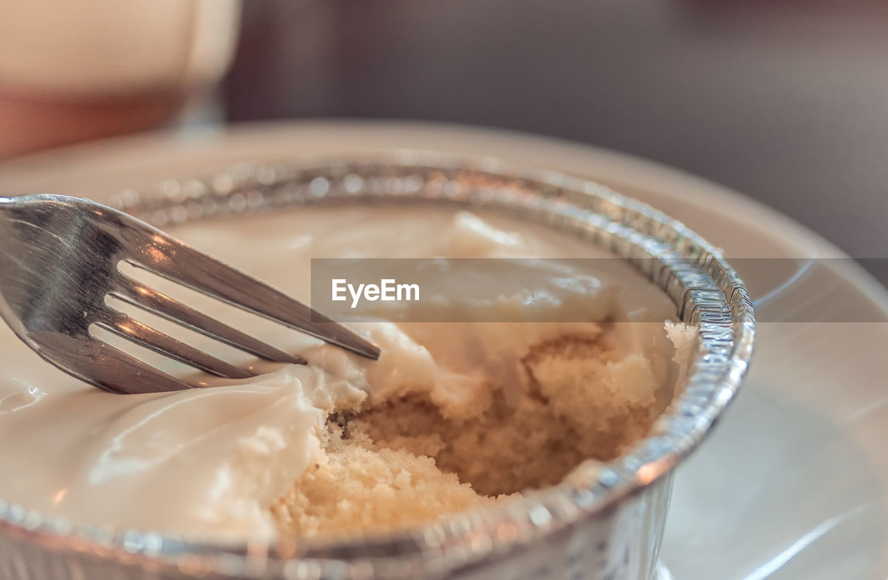
[[[622,357],[606,330],[590,330],[521,357],[528,382],[514,401],[488,380],[456,412],[408,392],[331,414],[320,457],[274,504],[279,529],[397,529],[553,485],[583,460],[614,459],[656,419],[656,380],[644,356]]]

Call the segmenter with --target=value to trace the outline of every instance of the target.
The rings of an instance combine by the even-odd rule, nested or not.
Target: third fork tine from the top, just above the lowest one
[[[128,317],[122,312],[112,311],[107,313],[99,318],[95,324],[146,349],[154,350],[165,357],[173,358],[181,363],[189,364],[220,377],[249,379],[255,376],[246,369],[226,363],[224,360],[213,357],[200,349],[188,346],[182,341],[177,341],[150,326],[143,325],[138,320]]]

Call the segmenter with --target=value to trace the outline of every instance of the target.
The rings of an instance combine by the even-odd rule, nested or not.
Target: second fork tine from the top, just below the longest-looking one
[[[260,358],[278,363],[307,364],[305,358],[289,354],[281,349],[275,349],[272,345],[244,334],[229,325],[223,324],[215,318],[209,317],[182,302],[178,302],[156,291],[154,288],[140,284],[127,276],[121,276],[118,287],[111,293],[122,300],[142,310],[152,312],[170,322],[183,325],[194,332],[202,333],[217,341],[249,352]]]

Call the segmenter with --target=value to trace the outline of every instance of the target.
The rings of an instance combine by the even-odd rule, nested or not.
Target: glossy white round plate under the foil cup
[[[392,147],[589,177],[683,220],[729,257],[842,257],[753,201],[648,161],[443,125],[319,121],[81,145],[0,165],[0,194],[104,197],[238,161]],[[733,408],[678,469],[662,561],[678,580],[888,577],[888,293],[841,259],[794,277],[742,264],[761,321],[757,355]],[[815,322],[823,317],[837,322]]]

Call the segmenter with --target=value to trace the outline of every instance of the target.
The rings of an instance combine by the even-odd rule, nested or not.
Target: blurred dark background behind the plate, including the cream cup
[[[605,146],[732,187],[855,257],[888,248],[882,2],[0,1],[0,158],[316,117]]]

